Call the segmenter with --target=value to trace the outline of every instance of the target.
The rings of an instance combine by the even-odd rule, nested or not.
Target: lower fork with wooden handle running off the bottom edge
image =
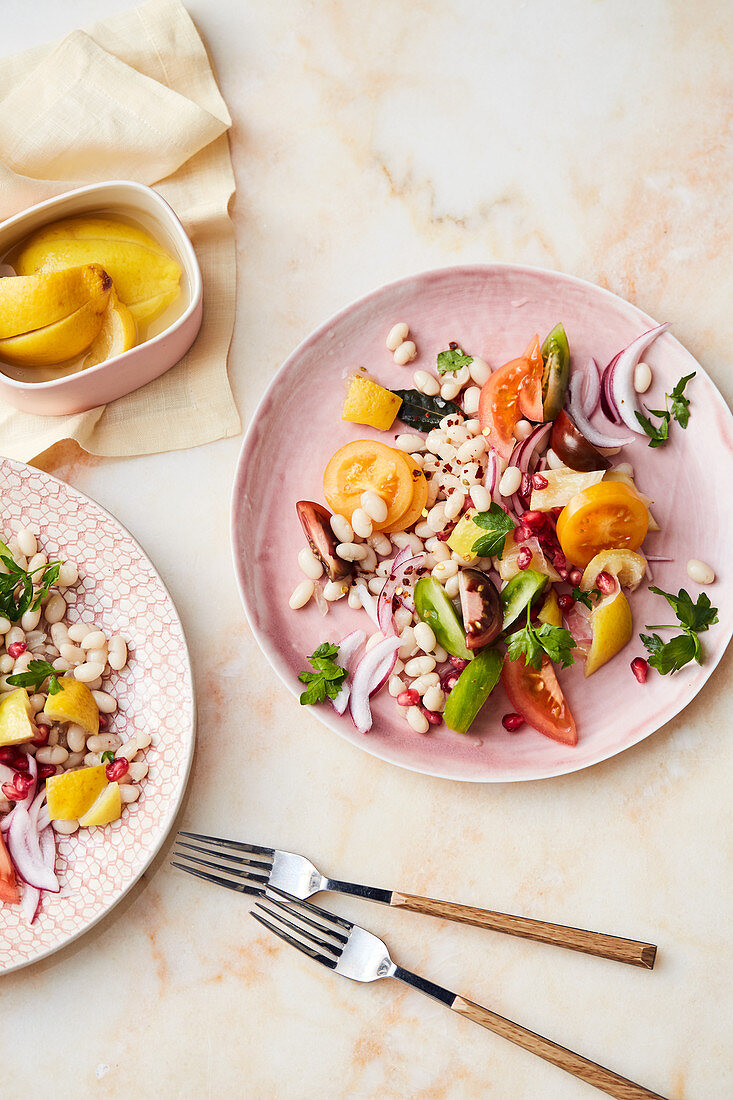
[[[273,893],[277,897],[272,897]],[[396,978],[619,1100],[664,1100],[658,1092],[650,1092],[613,1070],[604,1069],[598,1063],[500,1016],[491,1009],[474,1004],[442,986],[405,970],[392,961],[386,944],[371,932],[309,902],[289,899],[272,883],[267,887],[266,897],[255,902],[252,916],[281,939],[352,981]]]

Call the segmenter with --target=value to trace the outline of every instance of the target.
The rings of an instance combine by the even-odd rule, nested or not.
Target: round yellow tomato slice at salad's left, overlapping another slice
[[[374,439],[355,439],[339,448],[324,472],[324,495],[335,513],[351,519],[361,507],[361,494],[379,493],[386,503],[386,519],[374,524],[380,531],[407,512],[414,495],[413,466],[403,451]]]

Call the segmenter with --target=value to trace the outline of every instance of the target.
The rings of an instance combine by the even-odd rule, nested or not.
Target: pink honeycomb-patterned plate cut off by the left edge
[[[44,552],[68,557],[81,578],[67,590],[69,620],[94,618],[128,639],[130,661],[114,674],[111,729],[146,732],[150,772],[140,800],[105,828],[58,838],[62,890],[45,893],[29,926],[0,906],[0,974],[51,955],[97,923],[138,881],[160,849],[183,799],[194,750],[188,651],[165,585],[132,536],[77,490],[22,462],[0,459],[0,528],[28,525]]]

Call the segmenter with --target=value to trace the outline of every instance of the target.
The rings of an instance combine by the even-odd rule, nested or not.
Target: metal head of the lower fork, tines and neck
[[[376,981],[395,971],[390,953],[371,932],[272,886],[252,916],[317,963],[353,981]]]

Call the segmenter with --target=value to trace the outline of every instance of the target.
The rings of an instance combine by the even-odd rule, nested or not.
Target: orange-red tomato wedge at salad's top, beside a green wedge
[[[539,337],[535,336],[524,355],[500,366],[481,389],[481,428],[486,432],[486,441],[504,459],[514,449],[514,428],[523,417],[537,424],[544,420],[543,371]]]

